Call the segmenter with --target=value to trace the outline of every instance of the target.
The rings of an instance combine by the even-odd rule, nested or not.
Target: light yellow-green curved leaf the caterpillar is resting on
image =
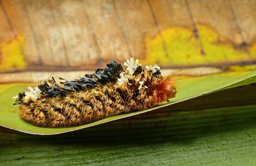
[[[97,124],[102,124],[105,122],[113,121],[120,118],[129,117],[132,115],[137,115],[140,113],[145,113],[151,110],[160,109],[161,107],[166,107],[170,104],[176,104],[181,101],[186,101],[199,96],[204,96],[209,93],[214,93],[220,90],[225,90],[231,87],[237,87],[245,84],[251,84],[256,82],[255,70],[240,73],[229,73],[228,75],[221,76],[220,74],[215,74],[214,76],[204,76],[196,78],[186,78],[184,76],[177,78],[177,95],[172,102],[163,102],[157,107],[143,110],[140,112],[116,115],[112,117],[105,118],[101,121],[97,121],[91,124],[86,124],[78,127],[66,127],[66,128],[44,128],[37,127],[23,121],[18,113],[17,106],[12,106],[13,96],[16,96],[18,92],[22,92],[24,89],[24,84],[12,84],[12,87],[6,85],[6,88],[1,87],[1,112],[0,112],[0,125],[10,129],[15,129],[21,132],[27,132],[31,134],[40,135],[50,135],[59,134],[63,132],[69,132],[77,129],[82,129],[85,127],[95,126]],[[7,90],[6,90],[7,89]],[[3,90],[3,91],[2,91]]]

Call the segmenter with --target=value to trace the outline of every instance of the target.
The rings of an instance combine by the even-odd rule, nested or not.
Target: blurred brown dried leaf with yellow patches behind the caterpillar
[[[255,0],[0,2],[2,83],[93,72],[129,57],[162,69],[256,62]]]

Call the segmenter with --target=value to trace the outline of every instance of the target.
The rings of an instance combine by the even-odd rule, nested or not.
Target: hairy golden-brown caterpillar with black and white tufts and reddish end
[[[121,64],[111,61],[73,81],[48,79],[13,97],[20,117],[41,127],[72,127],[108,116],[145,110],[175,97],[171,76],[163,77],[157,65],[142,69],[131,57]]]

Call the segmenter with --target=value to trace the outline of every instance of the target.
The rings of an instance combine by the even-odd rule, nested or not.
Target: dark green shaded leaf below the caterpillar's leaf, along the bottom
[[[1,165],[255,166],[255,93],[235,87],[59,135],[2,128]]]

